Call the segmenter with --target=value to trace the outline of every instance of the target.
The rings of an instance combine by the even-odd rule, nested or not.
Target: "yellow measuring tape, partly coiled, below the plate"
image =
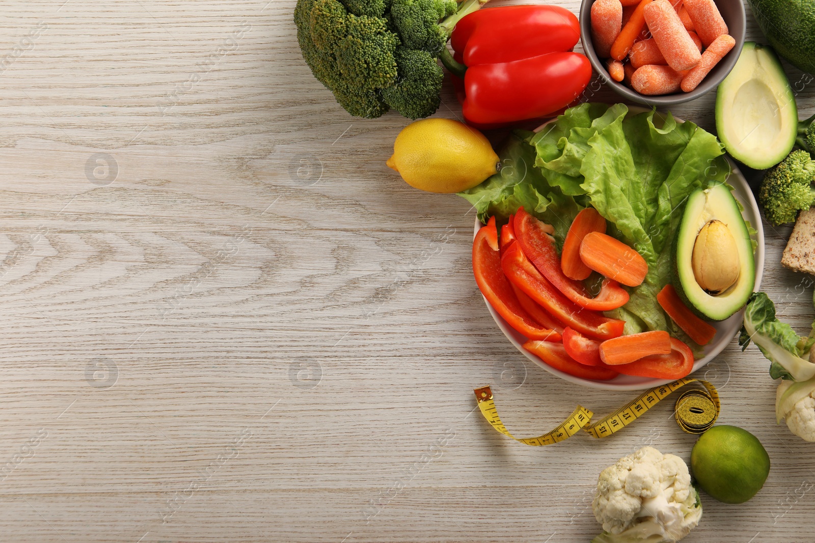
[[[643,392],[632,401],[629,401],[623,407],[617,409],[614,413],[608,414],[598,420],[596,423],[590,423],[594,414],[588,409],[577,406],[575,412],[569,415],[569,418],[553,431],[545,433],[543,436],[526,437],[518,439],[509,433],[509,430],[504,427],[498,416],[498,409],[496,409],[496,402],[492,400],[492,390],[487,387],[476,388],[475,397],[478,399],[478,408],[481,409],[481,414],[487,419],[487,422],[492,425],[497,431],[500,431],[504,436],[509,436],[513,440],[520,441],[523,444],[533,445],[540,447],[541,445],[550,445],[559,443],[562,440],[567,440],[574,436],[579,430],[587,431],[594,437],[608,437],[615,431],[627,427],[629,424],[640,418],[648,409],[659,404],[660,401],[688,383],[700,383],[707,389],[707,394],[701,390],[693,389],[682,394],[676,401],[676,423],[689,434],[701,434],[707,431],[716,418],[719,416],[720,402],[719,393],[716,392],[716,387],[702,379],[679,379],[673,383],[668,383],[662,387],[654,387],[650,390]]]

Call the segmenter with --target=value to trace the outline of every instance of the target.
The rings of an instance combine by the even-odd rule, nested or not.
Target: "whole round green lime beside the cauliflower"
[[[744,503],[764,486],[769,455],[749,431],[715,426],[694,444],[690,469],[711,497],[725,503]]]

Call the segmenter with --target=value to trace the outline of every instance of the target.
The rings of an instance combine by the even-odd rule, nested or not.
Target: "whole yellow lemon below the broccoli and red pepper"
[[[399,133],[387,164],[410,186],[451,194],[471,189],[496,173],[498,155],[484,134],[464,123],[425,119]]]

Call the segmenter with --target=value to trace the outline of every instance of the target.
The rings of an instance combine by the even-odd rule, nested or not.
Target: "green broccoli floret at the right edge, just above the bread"
[[[764,216],[778,226],[795,221],[798,212],[815,204],[815,162],[807,151],[792,151],[764,174],[759,189],[759,204]]]

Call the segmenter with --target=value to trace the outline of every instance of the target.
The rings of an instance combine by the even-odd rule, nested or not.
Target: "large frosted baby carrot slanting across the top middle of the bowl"
[[[701,55],[671,2],[651,2],[645,7],[643,15],[668,66],[677,71],[696,66]]]

